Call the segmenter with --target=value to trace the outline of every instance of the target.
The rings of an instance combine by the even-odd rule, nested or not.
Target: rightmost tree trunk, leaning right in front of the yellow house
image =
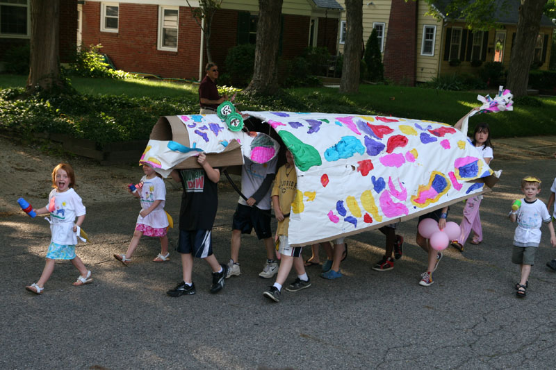
[[[541,27],[543,6],[548,0],[521,0],[517,23],[516,40],[509,60],[506,87],[514,96],[527,95],[529,69],[534,55],[534,46]]]

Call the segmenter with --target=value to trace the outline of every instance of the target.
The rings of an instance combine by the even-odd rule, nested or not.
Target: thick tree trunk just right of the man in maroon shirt
[[[283,0],[259,0],[253,79],[245,91],[270,95],[279,90],[277,56],[282,3]]]

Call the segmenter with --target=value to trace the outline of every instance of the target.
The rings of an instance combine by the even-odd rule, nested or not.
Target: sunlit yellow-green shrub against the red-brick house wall
[[[82,48],[70,63],[69,74],[82,77],[102,77],[102,78],[139,78],[136,74],[112,69],[105,61],[104,56],[99,53],[101,44],[91,45],[89,48]]]

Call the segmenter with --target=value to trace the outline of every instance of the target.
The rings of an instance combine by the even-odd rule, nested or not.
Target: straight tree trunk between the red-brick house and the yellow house
[[[345,26],[340,92],[359,92],[361,44],[363,42],[363,0],[345,0]]]

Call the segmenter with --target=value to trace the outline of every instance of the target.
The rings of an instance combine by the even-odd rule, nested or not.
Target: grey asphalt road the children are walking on
[[[512,143],[509,143],[512,146]],[[516,149],[517,151],[518,149]],[[516,154],[516,153],[514,153]],[[0,215],[0,367],[2,369],[549,369],[556,355],[556,258],[543,227],[528,296],[516,298],[518,267],[511,262],[515,225],[507,220],[521,178],[540,176],[548,200],[556,160],[539,155],[498,155],[503,169],[481,205],[484,242],[448,248],[430,287],[418,285],[426,255],[415,244],[416,220],[400,224],[404,255],[391,271],[370,267],[383,253],[378,231],[347,238],[344,277],[324,280],[308,269],[313,285],[284,292],[279,303],[263,298],[272,283],[258,277],[265,262],[256,237],[243,237],[241,276],[210,294],[210,269],[195,260],[194,296],[170,298],[181,280],[179,256],[155,264],[159,242],[144,237],[133,264],[124,252],[138,203],[88,206],[83,228],[91,242],[78,255],[92,270],[90,285],[73,287],[79,273],[59,262],[36,296],[24,289],[38,280],[49,243],[48,224],[7,212]],[[180,192],[166,209],[179,212]],[[86,199],[85,205],[86,204]],[[213,229],[215,255],[229,259],[231,216],[237,196],[220,192]],[[461,220],[462,204],[449,219]],[[273,228],[274,230],[274,228]],[[177,230],[170,231],[171,250]],[[309,248],[304,255],[310,255]],[[324,255],[321,255],[324,260]],[[292,273],[291,278],[295,276]]]

